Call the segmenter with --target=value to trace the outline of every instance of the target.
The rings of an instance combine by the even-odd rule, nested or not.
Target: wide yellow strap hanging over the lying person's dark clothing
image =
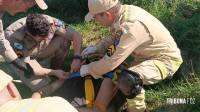
[[[85,77],[86,107],[92,107],[94,101],[94,86],[91,77]]]

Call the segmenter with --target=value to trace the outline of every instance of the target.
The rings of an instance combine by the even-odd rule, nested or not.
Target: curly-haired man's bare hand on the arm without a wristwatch
[[[70,73],[64,72],[63,70],[53,70],[51,74],[57,76],[60,79],[67,79],[70,76]]]

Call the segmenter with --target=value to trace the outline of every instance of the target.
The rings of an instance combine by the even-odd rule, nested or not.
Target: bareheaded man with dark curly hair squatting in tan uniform
[[[47,75],[56,75],[66,79],[69,73],[59,70],[67,56],[71,42],[74,46],[75,59],[71,72],[78,72],[82,47],[81,36],[63,21],[42,14],[30,14],[17,20],[5,29],[6,39],[18,57],[29,63],[35,77],[26,78],[21,70],[12,67],[20,79],[32,89],[38,91],[50,83]],[[38,61],[51,57],[50,69],[42,67]],[[38,77],[39,76],[39,77]]]

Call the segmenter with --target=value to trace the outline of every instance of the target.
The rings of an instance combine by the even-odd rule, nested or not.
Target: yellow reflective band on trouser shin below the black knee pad
[[[137,106],[137,105],[142,105],[144,102],[144,97],[139,97],[139,98],[134,98],[134,99],[127,99],[127,104],[129,107],[131,106]]]

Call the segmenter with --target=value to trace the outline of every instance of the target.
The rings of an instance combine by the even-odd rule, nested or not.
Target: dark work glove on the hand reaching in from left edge
[[[14,61],[11,62],[15,67],[22,70],[26,78],[31,78],[34,76],[33,68],[26,62],[16,58]]]

